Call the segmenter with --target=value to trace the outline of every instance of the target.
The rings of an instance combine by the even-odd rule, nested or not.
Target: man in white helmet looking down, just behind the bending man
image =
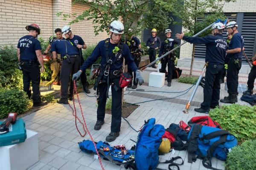
[[[71,44],[73,44],[73,46],[75,46],[76,49],[78,50],[79,56],[80,56],[79,63],[81,66],[84,63],[82,49],[87,48],[86,44],[84,43],[84,40],[78,35],[73,35],[72,29],[70,28],[70,26],[64,26],[61,31],[65,35],[67,40],[70,41]],[[82,83],[84,92],[90,93],[89,84],[87,82],[87,77],[86,77],[85,71],[82,73],[80,78],[81,78],[81,83]]]

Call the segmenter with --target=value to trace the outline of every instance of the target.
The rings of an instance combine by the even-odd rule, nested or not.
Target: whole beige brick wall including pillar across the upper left
[[[81,14],[84,9],[88,6],[72,6],[72,0],[0,0],[0,47],[6,44],[17,46],[19,38],[28,34],[26,25],[31,23],[40,26],[42,33],[38,37],[48,40],[56,28],[62,28],[72,19],[64,21],[56,16],[57,12]],[[88,45],[108,37],[106,32],[95,36],[91,20],[75,23],[71,28]]]

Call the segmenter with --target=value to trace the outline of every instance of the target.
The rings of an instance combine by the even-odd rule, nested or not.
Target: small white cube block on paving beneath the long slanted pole
[[[163,87],[165,81],[165,73],[151,72],[149,74],[148,86]]]

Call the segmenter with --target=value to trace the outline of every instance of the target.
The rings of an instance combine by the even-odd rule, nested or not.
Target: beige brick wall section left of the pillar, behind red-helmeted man
[[[0,46],[17,46],[20,37],[27,35],[25,26],[37,23],[48,38],[52,33],[52,0],[0,0]]]

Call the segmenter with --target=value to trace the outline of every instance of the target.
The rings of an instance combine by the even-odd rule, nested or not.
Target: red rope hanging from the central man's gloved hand
[[[88,128],[87,128],[87,125],[86,125],[86,123],[85,123],[84,113],[83,113],[83,111],[82,111],[82,107],[81,107],[81,103],[80,103],[80,100],[79,100],[79,96],[78,96],[77,91],[76,91],[76,81],[74,80],[73,105],[74,105],[75,116],[76,116],[76,107],[75,107],[75,101],[74,101],[74,94],[75,94],[75,92],[76,92],[76,97],[77,97],[77,100],[78,100],[78,103],[79,103],[79,107],[80,107],[80,110],[81,110],[81,115],[82,115],[83,121],[84,121],[83,127],[84,127],[84,125],[85,125],[85,128],[86,128],[86,130],[87,130],[87,132],[88,132],[88,134],[89,134],[89,136],[90,136],[90,139],[91,139],[91,141],[93,141],[94,148],[95,148],[96,153],[97,153],[98,158],[99,158],[99,164],[100,164],[100,166],[102,167],[102,170],[105,170],[104,167],[103,167],[103,165],[102,165],[102,160],[101,160],[101,158],[100,158],[100,156],[99,156],[99,152],[98,152],[98,150],[97,150],[96,144],[95,144],[95,142],[94,142],[94,140],[93,140],[93,136],[90,134],[90,132],[89,132],[89,130],[88,130]],[[73,110],[73,109],[72,109],[72,110]],[[76,116],[76,118],[79,120],[79,118],[78,118],[77,116]],[[79,120],[79,121],[80,121],[80,120]],[[80,123],[81,123],[81,122],[80,122]],[[76,129],[78,130],[77,126],[76,126]],[[79,131],[79,130],[78,130],[78,131]],[[85,132],[86,132],[86,131],[85,131]],[[80,132],[79,132],[79,133],[80,133]],[[81,133],[80,133],[80,135],[81,135]],[[84,135],[85,135],[85,134],[84,134]],[[82,137],[84,137],[84,136],[82,136]]]

